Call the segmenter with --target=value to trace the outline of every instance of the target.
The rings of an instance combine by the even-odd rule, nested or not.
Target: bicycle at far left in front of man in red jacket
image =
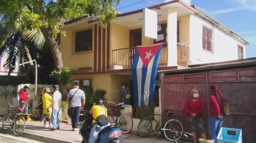
[[[25,129],[25,126],[26,126],[26,120],[23,116],[27,116],[29,114],[20,114],[19,112],[22,112],[23,109],[20,108],[20,106],[17,105],[16,109],[17,109],[17,113],[15,114],[15,117],[13,120],[11,120],[10,118],[10,111],[11,111],[11,108],[14,107],[12,106],[9,102],[5,102],[5,103],[8,103],[9,105],[9,110],[8,112],[5,114],[5,117],[3,119],[3,122],[2,122],[2,127],[0,128],[0,132],[2,131],[3,127],[5,126],[6,123],[9,124],[9,126],[13,127],[13,132],[16,136],[20,136],[24,129]],[[16,106],[16,105],[15,105]],[[22,122],[20,122],[21,120]]]

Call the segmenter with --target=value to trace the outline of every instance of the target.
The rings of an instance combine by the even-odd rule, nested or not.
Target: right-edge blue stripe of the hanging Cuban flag
[[[157,68],[158,68],[158,63],[160,59],[160,55],[162,52],[162,47],[155,53],[155,58],[153,62],[153,67],[152,67],[152,73],[151,73],[151,80],[150,80],[150,88],[149,88],[149,99],[148,99],[148,106],[152,105],[152,101],[154,100],[154,91],[155,91],[155,79],[157,76]]]

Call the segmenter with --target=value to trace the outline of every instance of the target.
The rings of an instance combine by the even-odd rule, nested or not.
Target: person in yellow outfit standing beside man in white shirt
[[[52,114],[52,108],[49,106],[52,103],[52,96],[50,96],[50,88],[44,88],[44,94],[42,96],[43,100],[43,113],[44,113],[44,127],[45,128],[52,128],[50,115]],[[48,109],[49,108],[49,109]],[[49,122],[49,125],[46,125],[46,121]]]

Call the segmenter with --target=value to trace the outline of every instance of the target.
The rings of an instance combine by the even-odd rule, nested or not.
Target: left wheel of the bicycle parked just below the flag
[[[152,121],[149,117],[145,117],[139,122],[138,133],[141,137],[146,137],[152,130]]]

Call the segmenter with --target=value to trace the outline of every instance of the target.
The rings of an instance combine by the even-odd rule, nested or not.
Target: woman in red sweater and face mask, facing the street
[[[198,126],[201,137],[206,139],[203,125],[204,100],[199,98],[198,89],[193,89],[189,99],[187,99],[184,110],[191,125],[194,143],[196,142],[196,126]]]

